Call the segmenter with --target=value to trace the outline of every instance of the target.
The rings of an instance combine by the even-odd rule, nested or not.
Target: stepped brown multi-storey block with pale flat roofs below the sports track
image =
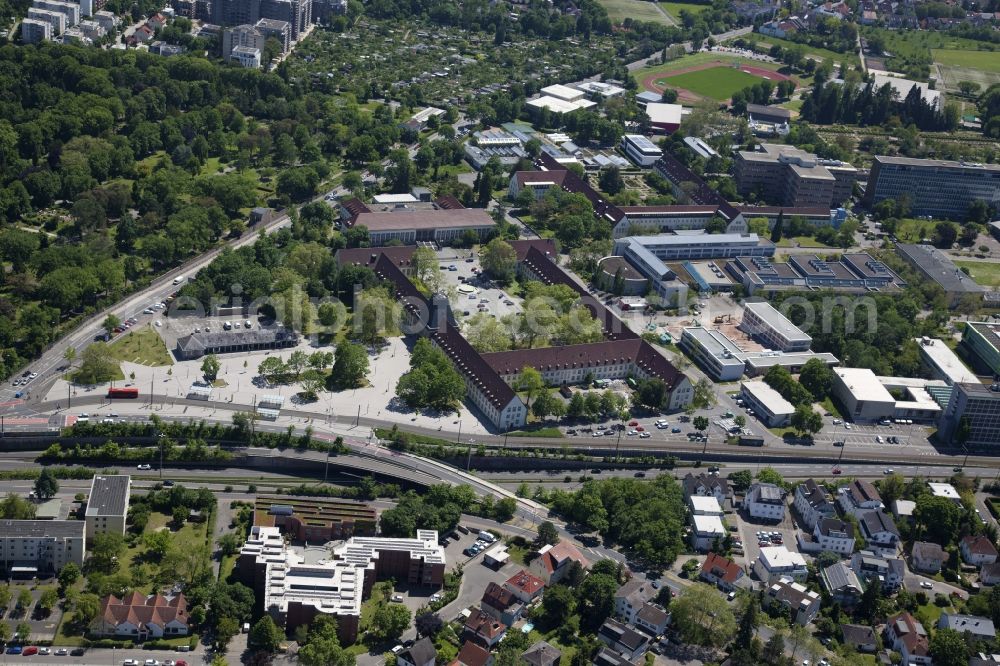
[[[736,187],[782,206],[836,207],[850,198],[858,170],[795,146],[761,144],[736,154]]]

